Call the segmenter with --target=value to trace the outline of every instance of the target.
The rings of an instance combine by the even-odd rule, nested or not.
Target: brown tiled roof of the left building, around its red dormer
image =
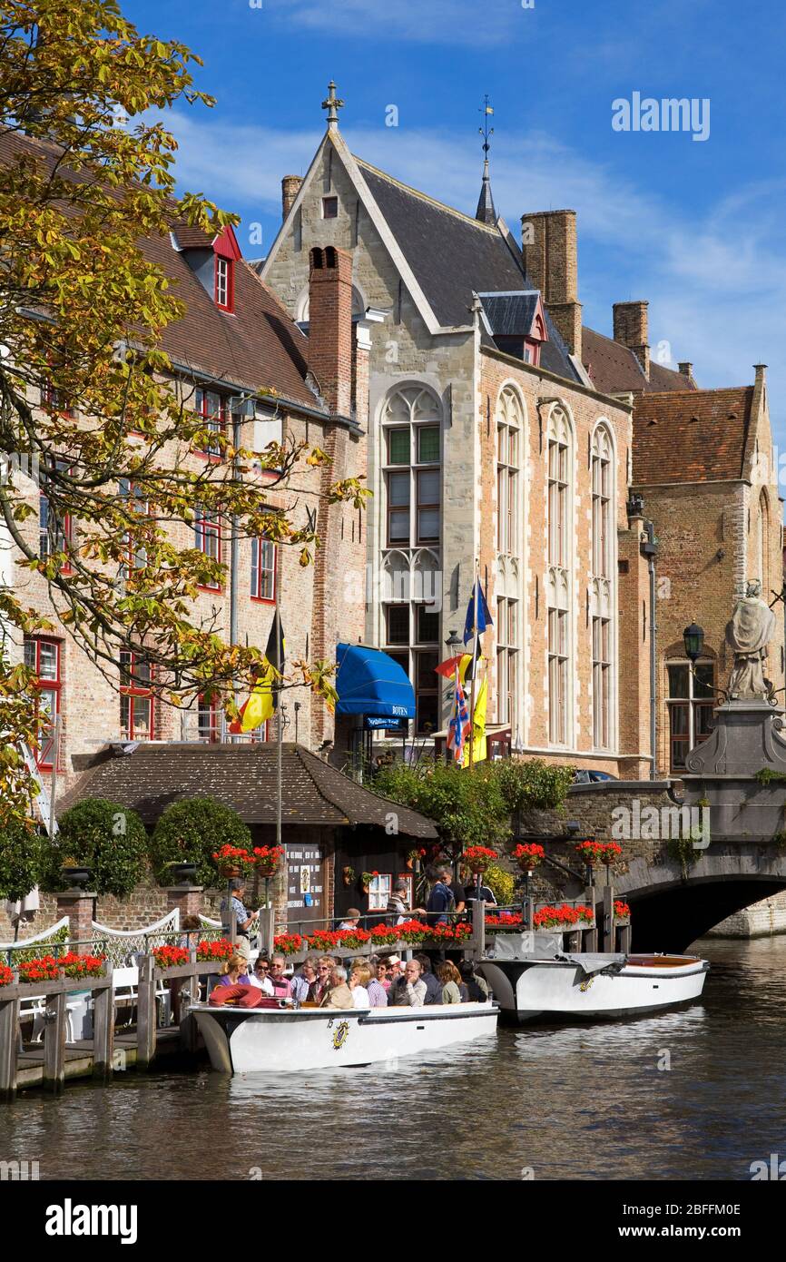
[[[52,164],[59,149],[30,136],[0,134],[0,163],[10,165],[23,154],[37,154]],[[85,173],[64,173],[74,182],[85,179]],[[174,213],[173,227],[182,246],[211,247],[212,237],[177,223]],[[250,390],[274,387],[291,403],[324,411],[324,404],[305,384],[308,338],[252,268],[243,261],[235,268],[232,314],[218,310],[168,235],[146,237],[140,249],[161,268],[175,297],[187,307],[183,319],[169,324],[160,337],[160,346],[173,360]]]

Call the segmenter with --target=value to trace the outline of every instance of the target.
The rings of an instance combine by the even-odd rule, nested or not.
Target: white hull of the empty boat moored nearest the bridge
[[[655,957],[657,958],[657,957]],[[587,976],[569,960],[483,962],[478,972],[503,1012],[519,1021],[602,1020],[638,1016],[698,1000],[708,963],[685,958],[676,967],[627,963],[619,972]]]

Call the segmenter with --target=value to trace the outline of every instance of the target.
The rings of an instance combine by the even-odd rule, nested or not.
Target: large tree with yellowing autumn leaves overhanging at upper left
[[[294,524],[296,493],[274,511],[270,492],[288,488],[300,461],[329,461],[304,443],[235,449],[197,415],[194,380],[163,348],[184,307],[144,242],[168,240],[174,223],[212,236],[237,222],[201,194],[175,196],[177,143],[160,119],[214,103],[194,88],[194,63],[185,45],[140,34],[115,0],[0,6],[0,457],[13,471],[0,478],[0,529],[23,578],[39,574],[50,601],[42,618],[24,583],[0,589],[0,627],[68,627],[115,687],[125,649],[145,664],[125,681],[149,683],[172,704],[209,690],[233,714],[233,681],[252,678],[261,650],[228,645],[199,620],[198,589],[221,583],[222,565],[178,541],[193,539],[182,524],[199,505],[225,529],[235,520],[246,536],[294,545],[309,564],[318,540]],[[276,392],[270,381],[246,385],[249,396]],[[225,458],[185,458],[208,443]],[[37,488],[13,463],[23,456],[45,485],[43,548]],[[252,458],[269,478],[250,473]],[[348,478],[329,498],[362,507],[366,493]],[[68,534],[57,528],[66,520]],[[35,743],[33,676],[10,664],[3,639],[0,820],[30,813],[20,746]],[[293,687],[334,697],[332,664],[291,669]]]

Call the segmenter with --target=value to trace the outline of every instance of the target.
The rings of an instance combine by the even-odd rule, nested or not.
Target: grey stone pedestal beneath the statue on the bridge
[[[685,803],[709,799],[713,840],[768,840],[786,828],[783,716],[782,707],[766,700],[725,702],[715,711],[712,736],[685,758]],[[778,779],[761,784],[756,776],[763,770]]]

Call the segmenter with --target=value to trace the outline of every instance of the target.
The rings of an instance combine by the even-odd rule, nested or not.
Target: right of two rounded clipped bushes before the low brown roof
[[[222,846],[249,849],[252,846],[249,827],[236,810],[214,798],[189,798],[173,801],[153,832],[150,858],[153,871],[161,882],[170,880],[168,864],[196,863],[199,885],[216,886],[218,872],[212,856]]]

